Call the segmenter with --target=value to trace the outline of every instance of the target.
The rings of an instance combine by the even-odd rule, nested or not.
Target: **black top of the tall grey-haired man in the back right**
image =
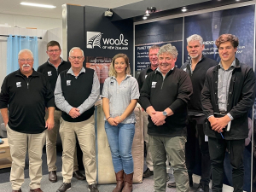
[[[193,95],[190,97],[190,102],[188,103],[189,114],[203,113],[201,107],[201,90],[205,84],[207,70],[216,66],[218,62],[202,55],[201,61],[196,64],[192,74],[189,64],[190,60],[186,61],[181,67],[183,71],[189,74],[193,85]]]

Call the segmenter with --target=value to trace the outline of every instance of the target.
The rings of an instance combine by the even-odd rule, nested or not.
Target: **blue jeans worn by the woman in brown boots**
[[[124,170],[126,174],[133,172],[131,146],[135,132],[134,124],[110,125],[105,121],[105,130],[111,150],[114,172]]]

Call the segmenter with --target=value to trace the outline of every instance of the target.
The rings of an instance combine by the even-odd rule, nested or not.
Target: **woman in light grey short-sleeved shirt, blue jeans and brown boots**
[[[136,123],[133,110],[137,105],[139,90],[137,80],[131,77],[130,71],[127,55],[115,55],[102,90],[105,130],[117,180],[113,192],[132,191],[131,146]]]

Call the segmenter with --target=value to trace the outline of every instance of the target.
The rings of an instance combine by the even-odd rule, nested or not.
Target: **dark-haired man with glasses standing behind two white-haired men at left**
[[[49,80],[50,88],[55,91],[55,84],[59,73],[67,70],[71,67],[70,62],[64,61],[61,58],[61,45],[56,41],[50,41],[47,44],[47,55],[49,59],[41,66],[38,67],[38,72],[43,73],[46,79]],[[46,111],[45,119],[48,119],[48,110]],[[57,166],[55,166],[56,155],[56,141],[57,135],[60,129],[61,110],[55,108],[55,126],[51,130],[46,131],[46,154],[47,154],[47,166],[49,171],[49,181],[57,182]],[[74,163],[73,163],[73,177],[79,180],[84,180],[84,175],[79,172],[79,165],[77,160],[77,154],[75,150]]]

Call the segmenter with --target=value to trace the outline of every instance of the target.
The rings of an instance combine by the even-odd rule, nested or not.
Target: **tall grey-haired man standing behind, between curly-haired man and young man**
[[[188,103],[189,124],[187,125],[187,143],[186,143],[186,166],[189,173],[189,186],[193,186],[193,171],[195,162],[195,146],[199,144],[201,150],[201,180],[196,191],[209,191],[211,177],[211,162],[208,148],[208,142],[205,137],[206,118],[201,106],[201,90],[204,86],[206,73],[210,67],[218,63],[202,54],[205,45],[200,35],[194,34],[187,38],[187,50],[190,59],[186,61],[181,69],[189,74],[193,85],[193,95]],[[198,140],[196,140],[198,137]],[[198,141],[198,143],[196,143]],[[172,187],[169,183],[168,187]]]

